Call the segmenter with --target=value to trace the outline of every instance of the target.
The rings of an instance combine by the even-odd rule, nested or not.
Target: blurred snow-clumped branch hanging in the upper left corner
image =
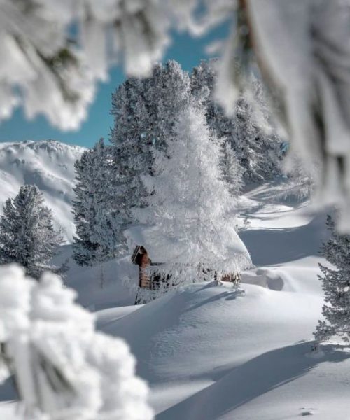
[[[21,104],[27,118],[43,113],[77,129],[111,62],[123,58],[132,76],[151,73],[168,22],[158,0],[1,1],[0,120]]]

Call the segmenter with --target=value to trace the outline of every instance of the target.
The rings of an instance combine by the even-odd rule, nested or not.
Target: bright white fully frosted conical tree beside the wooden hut
[[[154,176],[144,176],[149,195],[146,207],[135,214],[141,223],[153,225],[149,240],[167,256],[165,264],[151,270],[165,279],[170,274],[173,286],[239,272],[251,264],[235,232],[221,153],[204,110],[190,105],[179,114],[174,136],[167,139],[167,153],[155,151]]]

